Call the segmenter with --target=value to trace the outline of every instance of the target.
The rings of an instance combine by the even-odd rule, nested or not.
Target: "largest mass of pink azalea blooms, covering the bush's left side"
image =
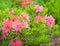
[[[4,19],[2,24],[3,35],[6,36],[7,33],[10,32],[11,28],[14,29],[14,32],[18,32],[22,28],[28,28],[28,22],[26,20],[22,20],[21,22],[19,22],[21,18],[26,18],[29,20],[29,16],[27,14],[21,14],[19,18],[11,17],[10,20]]]

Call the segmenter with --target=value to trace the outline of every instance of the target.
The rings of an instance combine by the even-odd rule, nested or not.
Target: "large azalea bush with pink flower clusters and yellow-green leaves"
[[[0,10],[1,46],[50,46],[51,39],[60,35],[59,25],[45,5],[34,0],[9,2],[10,7]]]

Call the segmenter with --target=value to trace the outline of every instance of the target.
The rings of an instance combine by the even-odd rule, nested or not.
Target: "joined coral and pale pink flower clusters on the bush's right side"
[[[52,27],[55,19],[52,16],[36,16],[34,21],[39,22],[41,19],[44,20],[44,23],[48,25],[48,27]]]

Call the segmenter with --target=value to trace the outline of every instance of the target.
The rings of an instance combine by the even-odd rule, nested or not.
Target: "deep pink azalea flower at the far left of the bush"
[[[9,20],[3,20],[3,24],[2,24],[2,33],[6,36],[7,33],[10,31],[11,28],[11,24],[9,22]]]

